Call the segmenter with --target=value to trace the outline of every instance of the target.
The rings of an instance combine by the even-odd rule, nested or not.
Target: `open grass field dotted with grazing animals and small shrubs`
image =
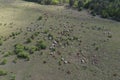
[[[119,30],[86,10],[0,0],[0,80],[120,80]]]

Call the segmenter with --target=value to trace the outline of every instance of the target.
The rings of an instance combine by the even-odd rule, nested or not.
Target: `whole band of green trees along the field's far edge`
[[[26,0],[40,4],[56,5],[68,3],[69,7],[79,11],[89,9],[93,16],[100,15],[103,18],[110,18],[120,21],[120,0]]]

